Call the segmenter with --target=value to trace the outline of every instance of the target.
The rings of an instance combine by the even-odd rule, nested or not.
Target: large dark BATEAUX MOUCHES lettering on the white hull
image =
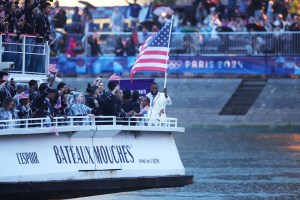
[[[53,146],[58,164],[134,163],[132,146]]]

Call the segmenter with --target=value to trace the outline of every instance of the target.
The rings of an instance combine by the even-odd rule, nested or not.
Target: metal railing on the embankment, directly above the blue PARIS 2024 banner
[[[143,42],[154,33],[138,32],[139,42]],[[82,42],[85,53],[89,55],[88,38],[97,35],[104,55],[114,55],[116,38],[121,37],[124,43],[131,37],[128,32],[87,33]],[[173,32],[171,56],[278,56],[300,55],[299,32]],[[138,49],[138,47],[136,47]]]

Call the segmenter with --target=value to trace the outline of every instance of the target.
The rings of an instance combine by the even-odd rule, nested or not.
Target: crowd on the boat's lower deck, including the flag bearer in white
[[[88,84],[85,94],[72,91],[64,82],[56,88],[50,82],[38,85],[36,80],[16,83],[3,71],[0,82],[0,120],[45,118],[51,124],[54,117],[68,116],[115,116],[125,121],[130,117],[165,118],[165,107],[172,104],[166,89],[158,92],[157,83],[151,84],[150,93],[140,96],[138,91],[122,90],[118,81],[109,81],[106,89],[101,78]],[[9,124],[5,127],[15,126]]]

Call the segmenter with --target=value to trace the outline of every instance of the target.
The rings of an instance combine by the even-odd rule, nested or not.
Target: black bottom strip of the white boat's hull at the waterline
[[[193,176],[129,177],[95,180],[1,183],[1,199],[60,199],[102,195],[151,188],[182,187]]]

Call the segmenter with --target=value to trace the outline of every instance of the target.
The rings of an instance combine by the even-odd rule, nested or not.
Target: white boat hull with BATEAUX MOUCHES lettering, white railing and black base
[[[73,198],[193,182],[172,136],[185,131],[175,118],[44,120],[0,121],[1,199]]]

